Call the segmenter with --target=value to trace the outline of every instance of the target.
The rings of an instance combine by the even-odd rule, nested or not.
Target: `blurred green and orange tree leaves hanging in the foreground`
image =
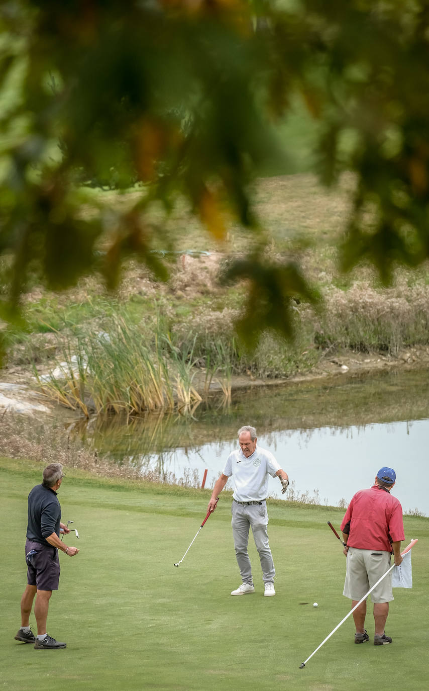
[[[248,281],[241,331],[290,335],[291,299],[318,292],[290,256],[268,261],[250,183],[286,165],[276,125],[297,100],[321,180],[355,172],[341,267],[366,259],[387,284],[428,257],[425,0],[9,0],[0,28],[0,318],[29,276],[114,287],[131,254],[166,278],[153,249],[174,234],[148,209],[180,196],[219,242],[231,223],[252,237],[223,276]],[[131,209],[81,214],[88,185],[132,184]]]

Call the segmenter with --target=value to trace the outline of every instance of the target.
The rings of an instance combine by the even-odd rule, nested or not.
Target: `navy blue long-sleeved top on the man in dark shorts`
[[[61,522],[61,505],[57,492],[43,484],[37,484],[28,495],[28,540],[49,545],[48,538],[52,533],[59,537]],[[52,545],[50,545],[52,547]]]

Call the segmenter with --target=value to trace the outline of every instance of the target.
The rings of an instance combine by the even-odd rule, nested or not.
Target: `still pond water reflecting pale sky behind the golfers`
[[[228,407],[219,400],[199,406],[194,417],[151,415],[127,424],[110,418],[82,433],[115,462],[126,456],[167,480],[197,484],[207,469],[212,486],[243,424],[257,428],[258,444],[287,471],[295,498],[348,504],[386,465],[397,473],[392,493],[403,510],[429,515],[428,370],[249,388],[233,393]],[[268,489],[281,498],[277,478]]]

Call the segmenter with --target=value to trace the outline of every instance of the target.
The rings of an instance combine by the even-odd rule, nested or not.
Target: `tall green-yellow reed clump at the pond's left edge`
[[[34,367],[41,393],[85,417],[148,410],[188,413],[201,401],[192,385],[192,348],[179,349],[159,330],[148,339],[124,316],[112,316],[106,332],[78,332],[61,343],[53,365],[48,377]]]

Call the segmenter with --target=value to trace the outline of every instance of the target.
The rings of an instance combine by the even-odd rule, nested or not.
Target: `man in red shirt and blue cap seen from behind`
[[[391,554],[395,565],[401,564],[401,540],[405,535],[401,504],[390,494],[395,480],[396,473],[392,468],[380,468],[375,484],[352,497],[341,523],[347,557],[343,595],[352,600],[352,607],[386,574]],[[389,602],[393,600],[392,572],[372,591],[371,598],[374,604],[374,645],[392,643],[392,638],[384,632]],[[365,616],[366,600],[353,612],[355,643],[365,643],[370,639],[365,628]]]

